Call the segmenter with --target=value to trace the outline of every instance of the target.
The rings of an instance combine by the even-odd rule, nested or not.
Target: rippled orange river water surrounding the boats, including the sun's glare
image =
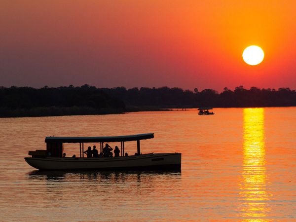
[[[0,119],[0,220],[296,221],[296,108],[215,112]],[[24,161],[45,136],[140,133],[154,133],[143,153],[181,152],[182,170],[39,172]]]

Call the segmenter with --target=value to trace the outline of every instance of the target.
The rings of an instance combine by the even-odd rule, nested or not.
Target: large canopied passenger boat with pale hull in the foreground
[[[181,153],[142,154],[140,140],[154,138],[153,133],[115,137],[46,137],[46,150],[29,151],[32,157],[25,161],[39,170],[180,170]],[[124,142],[137,141],[135,155],[126,155]],[[99,143],[103,153],[104,143],[120,142],[119,157],[84,157],[84,143]],[[79,143],[80,157],[63,157],[64,143]]]

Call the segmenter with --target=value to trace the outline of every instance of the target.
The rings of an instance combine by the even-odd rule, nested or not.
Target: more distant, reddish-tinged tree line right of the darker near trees
[[[213,89],[198,91],[195,88],[103,88],[104,92],[124,101],[126,106],[157,106],[162,108],[194,108],[194,107],[283,107],[296,106],[296,91],[290,88],[260,89],[243,86],[232,91],[225,87],[218,93]]]

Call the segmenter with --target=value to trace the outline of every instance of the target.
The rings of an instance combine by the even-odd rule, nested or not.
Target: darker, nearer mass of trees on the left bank
[[[0,117],[122,113],[122,100],[87,84],[80,87],[0,87]]]

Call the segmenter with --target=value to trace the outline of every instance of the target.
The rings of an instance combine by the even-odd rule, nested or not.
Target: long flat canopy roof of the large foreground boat
[[[45,143],[111,143],[147,140],[152,138],[154,138],[154,133],[115,137],[45,137]]]

